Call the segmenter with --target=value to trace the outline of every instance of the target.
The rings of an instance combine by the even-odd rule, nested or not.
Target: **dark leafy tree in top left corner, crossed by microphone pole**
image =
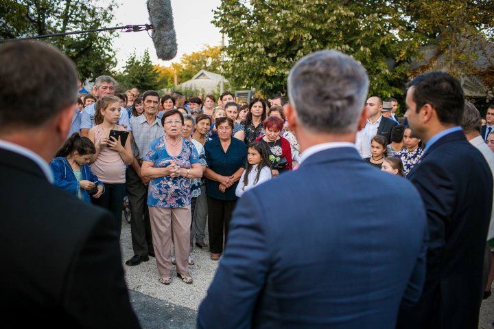
[[[108,27],[115,4],[95,0],[0,0],[0,38],[21,38]],[[78,68],[80,78],[108,74],[115,67],[110,32],[92,32],[41,39],[62,50]]]

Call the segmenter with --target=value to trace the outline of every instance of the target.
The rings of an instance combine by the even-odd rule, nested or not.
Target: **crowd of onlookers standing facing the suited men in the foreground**
[[[174,264],[177,275],[190,284],[193,247],[210,251],[211,260],[220,259],[237,199],[254,185],[298,167],[300,146],[284,113],[289,102],[273,95],[237,104],[229,91],[217,100],[202,93],[187,98],[178,91],[163,97],[156,91],[139,95],[137,88],[114,96],[116,84],[110,76],[96,78],[93,93],[79,95],[86,107],[75,110],[75,115],[82,117],[81,135],[88,135],[95,144],[88,163],[105,193],[88,198],[84,190],[94,186],[80,175],[68,179],[82,181],[75,189],[60,177],[57,182],[80,198],[110,209],[117,227],[121,227],[121,200],[127,195],[134,218],[135,255],[126,264],[138,265],[156,253],[160,282],[171,282]],[[366,100],[368,118],[355,137],[355,147],[371,166],[407,177],[424,148],[408,126],[406,114],[405,125],[400,122],[397,104],[395,98],[383,102],[371,96]],[[488,111],[487,119],[489,115]],[[111,129],[130,131],[132,138],[121,145],[110,139]],[[484,132],[488,145],[489,133]],[[75,135],[67,142],[80,139]],[[159,152],[165,155],[157,161],[152,157]],[[54,169],[57,164],[54,160]],[[155,170],[165,167],[167,170]],[[160,208],[172,213],[156,212]],[[206,225],[209,245],[204,242]]]

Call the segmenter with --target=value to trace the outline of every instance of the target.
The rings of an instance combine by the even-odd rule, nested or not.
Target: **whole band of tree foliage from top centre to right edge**
[[[228,36],[225,76],[234,86],[264,95],[285,92],[297,60],[338,49],[364,65],[370,94],[389,98],[403,95],[410,63],[423,45],[454,54],[448,60],[461,65],[451,65],[459,67],[452,73],[468,71],[475,58],[459,36],[492,37],[493,6],[467,0],[222,0],[213,24]]]

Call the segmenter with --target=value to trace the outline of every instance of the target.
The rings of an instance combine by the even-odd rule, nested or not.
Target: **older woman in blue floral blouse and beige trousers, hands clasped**
[[[151,179],[148,206],[151,219],[156,264],[162,284],[170,284],[174,242],[176,273],[180,279],[192,283],[187,260],[191,225],[191,179],[202,177],[202,168],[196,147],[180,136],[183,115],[167,111],[161,118],[165,136],[150,144],[141,173]]]

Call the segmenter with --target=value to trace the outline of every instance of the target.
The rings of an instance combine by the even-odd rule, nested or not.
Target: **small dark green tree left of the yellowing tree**
[[[116,73],[115,76],[124,89],[137,87],[139,90],[154,90],[158,88],[158,71],[151,62],[149,49],[145,49],[142,57],[132,53],[127,59],[123,73]]]

